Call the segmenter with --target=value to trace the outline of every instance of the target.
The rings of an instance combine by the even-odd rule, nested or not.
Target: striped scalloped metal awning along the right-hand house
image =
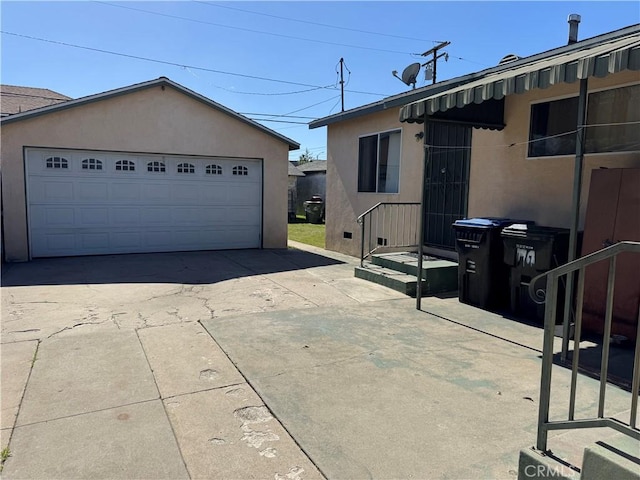
[[[623,70],[640,70],[640,33],[611,40],[512,68],[490,73],[479,80],[407,104],[400,110],[401,122],[423,122],[424,115],[446,112],[500,100],[513,93],[573,83],[588,77],[606,77]]]

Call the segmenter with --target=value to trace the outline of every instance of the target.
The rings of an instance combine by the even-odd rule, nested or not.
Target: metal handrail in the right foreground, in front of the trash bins
[[[560,267],[538,275],[529,284],[529,294],[544,298],[544,343],[542,350],[542,375],[540,379],[540,407],[538,411],[538,436],[536,448],[547,450],[547,437],[550,430],[571,430],[577,428],[609,427],[636,440],[640,440],[640,429],[637,426],[638,388],[640,387],[640,325],[636,335],[636,345],[633,361],[632,386],[631,386],[631,413],[629,423],[618,419],[605,417],[605,394],[607,385],[607,372],[609,367],[609,337],[611,336],[611,322],[613,316],[613,292],[615,289],[616,259],[619,254],[631,252],[640,253],[640,242],[619,242],[607,248],[578,258]],[[578,378],[578,362],[580,357],[580,336],[582,332],[582,303],[584,300],[585,268],[594,263],[609,260],[609,275],[607,279],[607,304],[605,307],[605,323],[603,333],[602,357],[600,360],[600,395],[598,399],[597,418],[575,419],[576,387]],[[569,397],[569,413],[567,420],[549,421],[549,404],[551,400],[551,371],[553,368],[553,337],[556,323],[556,307],[558,302],[559,279],[563,275],[578,271],[578,288],[576,300],[576,318],[574,331],[573,359],[571,366],[571,390]],[[547,279],[546,292],[535,291],[535,285],[544,277]],[[569,302],[571,299],[566,299]],[[568,319],[564,319],[568,321]],[[640,324],[640,312],[638,314]],[[563,335],[568,335],[568,329],[564,329]],[[568,341],[563,344],[568,345]]]

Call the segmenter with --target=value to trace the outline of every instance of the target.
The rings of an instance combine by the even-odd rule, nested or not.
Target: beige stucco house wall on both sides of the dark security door
[[[623,72],[604,79],[589,79],[589,90],[640,81],[638,72]],[[473,129],[469,178],[468,216],[516,217],[539,225],[569,227],[575,155],[527,158],[531,103],[577,95],[579,83],[511,95],[505,99],[502,131]],[[423,145],[414,135],[421,125],[400,123],[399,108],[328,126],[327,237],[330,250],[360,255],[357,216],[383,201],[420,201]],[[358,137],[385,130],[402,130],[399,194],[357,193]],[[510,146],[516,144],[514,146]],[[599,167],[640,167],[640,153],[586,155],[581,219],[589,192],[590,172]],[[352,239],[344,239],[352,232]]]

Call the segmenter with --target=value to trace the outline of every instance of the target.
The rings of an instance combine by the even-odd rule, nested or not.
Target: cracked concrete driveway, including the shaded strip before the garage
[[[294,246],[5,265],[3,477],[515,478],[541,330]]]

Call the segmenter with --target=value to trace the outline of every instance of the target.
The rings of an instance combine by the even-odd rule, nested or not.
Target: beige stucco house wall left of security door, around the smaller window
[[[422,175],[422,141],[415,134],[421,125],[400,123],[399,109],[359,117],[327,128],[326,247],[360,255],[358,215],[378,202],[419,202]],[[397,194],[358,193],[358,138],[399,129],[402,132],[400,188]],[[344,232],[352,238],[345,239]]]

